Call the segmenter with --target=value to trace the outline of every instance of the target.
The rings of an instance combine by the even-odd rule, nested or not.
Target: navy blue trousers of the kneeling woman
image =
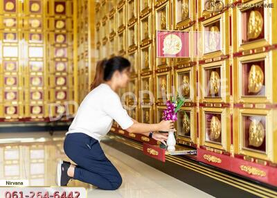
[[[91,183],[103,190],[116,190],[121,185],[120,173],[107,159],[95,138],[84,133],[67,134],[64,152],[76,163],[73,179]]]

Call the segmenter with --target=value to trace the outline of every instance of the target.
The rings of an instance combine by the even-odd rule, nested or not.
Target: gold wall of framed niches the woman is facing
[[[217,8],[228,1],[222,3]],[[257,5],[260,1],[247,3]],[[136,120],[159,122],[166,108],[163,93],[184,85],[181,93],[186,102],[175,125],[178,143],[277,162],[274,8],[222,7],[220,12],[211,12],[210,4],[190,0],[100,1],[96,6],[98,57],[123,55],[132,63],[129,86],[118,93],[135,93],[139,104],[132,97],[126,98],[125,104],[135,105],[129,115]],[[211,34],[202,36],[195,45],[201,57],[157,58],[156,30]],[[220,39],[213,33],[220,33]],[[190,41],[196,42],[193,38]],[[154,94],[154,104],[147,94],[139,97],[141,90]]]

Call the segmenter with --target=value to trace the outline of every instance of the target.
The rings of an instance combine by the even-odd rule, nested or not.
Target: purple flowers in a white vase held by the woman
[[[175,122],[177,120],[177,112],[181,108],[182,105],[184,105],[185,98],[180,98],[179,95],[177,95],[177,98],[170,97],[170,100],[166,102],[166,109],[163,110],[163,120],[173,120]],[[166,141],[168,145],[168,151],[174,151],[176,140],[174,132],[175,129],[170,129],[168,131],[168,141]]]

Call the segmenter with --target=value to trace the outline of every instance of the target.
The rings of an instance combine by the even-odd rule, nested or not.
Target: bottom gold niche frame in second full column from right
[[[220,114],[221,115],[221,143],[215,143],[213,141],[206,141],[206,119],[205,113],[208,114]],[[206,147],[213,147],[218,150],[224,150],[229,152],[231,145],[231,124],[230,124],[230,109],[228,108],[211,108],[211,107],[203,107],[200,108],[200,133],[199,133],[199,141],[200,145],[204,145]]]

